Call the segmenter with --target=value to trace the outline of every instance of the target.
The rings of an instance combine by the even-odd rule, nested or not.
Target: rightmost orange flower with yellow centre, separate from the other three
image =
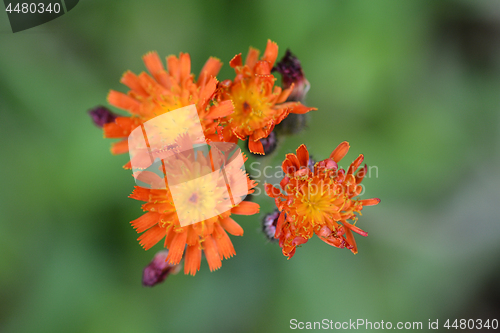
[[[282,169],[285,174],[281,190],[266,184],[267,195],[275,199],[280,211],[275,238],[279,239],[283,255],[290,259],[298,245],[306,243],[316,234],[325,243],[348,248],[357,253],[353,232],[368,234],[355,226],[357,216],[364,206],[377,205],[380,199],[355,199],[367,167],[359,168],[363,155],[359,155],[347,172],[339,169],[339,162],[349,150],[349,143],[342,142],[330,158],[309,163],[309,152],[301,145],[296,154],[287,154]],[[353,223],[348,220],[354,221]]]

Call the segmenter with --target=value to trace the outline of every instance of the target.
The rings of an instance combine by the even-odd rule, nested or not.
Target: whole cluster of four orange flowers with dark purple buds
[[[242,227],[232,216],[254,215],[260,210],[257,203],[233,201],[232,195],[242,198],[254,192],[257,186],[250,175],[238,169],[247,160],[245,155],[239,155],[241,162],[234,162],[233,157],[225,161],[234,162],[228,176],[214,168],[213,154],[181,149],[183,145],[194,148],[206,143],[225,147],[247,140],[252,154],[265,155],[277,146],[275,128],[284,134],[294,134],[304,127],[305,114],[316,110],[303,104],[310,84],[300,61],[289,50],[276,63],[278,46],[269,40],[263,55],[259,56],[260,52],[252,47],[245,61],[241,53],[236,55],[229,61],[235,71],[234,78],[219,82],[217,75],[222,62],[217,58],[209,58],[195,79],[189,54],[168,56],[165,67],[158,54],[150,52],[143,57],[149,73],[125,72],[121,83],[129,90],[126,93],[111,90],[108,94],[109,104],[127,111],[128,115],[119,115],[103,106],[89,112],[94,123],[102,127],[104,137],[120,139],[112,144],[113,154],[127,153],[129,148],[131,156],[136,154],[124,168],[133,169],[136,180],[149,186],[136,186],[130,195],[144,202],[145,212],[131,224],[141,233],[138,241],[145,250],[160,241],[167,250],[158,252],[145,268],[145,286],[154,286],[169,274],[177,273],[182,260],[185,274],[197,273],[203,255],[211,271],[220,268],[223,259],[236,253],[228,234],[243,235]],[[281,75],[281,87],[275,84],[274,72]],[[141,147],[142,150],[134,150],[134,144],[129,147],[129,136],[137,132],[135,129],[142,128],[145,134],[148,121],[188,106],[195,112],[192,105],[200,119],[200,133],[203,132],[197,138],[202,137],[203,143],[191,141],[189,135],[176,129],[176,126],[188,125],[174,122],[154,134],[155,138],[172,136],[168,138],[168,142],[173,142],[171,146],[152,149],[145,139],[147,147]],[[360,155],[347,171],[340,169],[337,163],[348,149],[348,143],[343,142],[330,158],[314,162],[306,146],[301,145],[296,154],[288,154],[282,164],[285,176],[280,188],[265,185],[277,210],[265,217],[263,231],[270,239],[279,240],[288,259],[297,246],[314,234],[332,246],[348,248],[353,253],[357,252],[353,232],[367,235],[355,225],[356,214],[360,214],[364,206],[376,205],[380,200],[357,199],[366,165],[357,171],[363,161]],[[150,168],[155,159],[161,161],[159,172]],[[167,175],[175,181],[168,182]],[[238,185],[230,188],[231,175],[243,181],[233,181]],[[181,187],[180,192],[176,190],[174,205],[173,187],[178,183],[187,185]],[[184,218],[198,222],[186,225],[181,222]]]

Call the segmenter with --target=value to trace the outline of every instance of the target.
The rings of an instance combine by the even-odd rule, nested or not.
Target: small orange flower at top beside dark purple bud
[[[278,45],[270,40],[260,60],[259,51],[251,47],[245,64],[241,53],[229,62],[236,72],[235,79],[221,84],[220,100],[234,103],[234,112],[223,119],[224,141],[236,143],[238,139],[248,138],[248,148],[255,154],[264,154],[260,140],[266,138],[289,113],[316,110],[300,102],[285,102],[293,85],[285,90],[274,86],[276,78],[271,70],[277,56]]]

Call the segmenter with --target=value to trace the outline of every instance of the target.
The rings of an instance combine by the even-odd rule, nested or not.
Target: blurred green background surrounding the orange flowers
[[[141,286],[156,250],[129,221],[127,157],[88,117],[126,91],[141,56],[228,65],[267,39],[290,48],[318,111],[265,163],[341,141],[365,155],[359,253],[314,238],[287,261],[238,217],[237,255],[210,273]],[[0,331],[284,332],[290,320],[500,319],[500,2],[80,1],[13,34],[0,14]],[[248,168],[248,167],[247,167]]]

